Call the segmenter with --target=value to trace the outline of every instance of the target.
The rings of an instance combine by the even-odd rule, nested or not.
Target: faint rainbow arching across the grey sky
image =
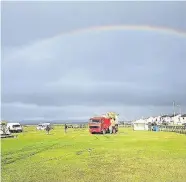
[[[148,26],[148,25],[108,25],[108,26],[94,26],[83,29],[72,30],[69,32],[62,32],[56,36],[61,35],[76,35],[83,33],[91,33],[91,32],[103,32],[103,31],[118,31],[118,30],[131,30],[131,31],[147,31],[147,32],[159,32],[164,34],[169,34],[172,36],[179,36],[186,38],[186,32],[167,28],[167,27],[156,27],[156,26]],[[55,36],[55,37],[56,37]]]

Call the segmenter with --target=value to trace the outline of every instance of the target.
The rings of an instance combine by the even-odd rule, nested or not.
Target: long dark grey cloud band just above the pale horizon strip
[[[7,97],[8,96],[8,97]],[[182,106],[185,105],[185,93],[181,94],[162,94],[161,92],[120,92],[112,90],[110,93],[50,93],[50,94],[12,94],[4,95],[2,101],[5,103],[22,102],[24,104],[36,104],[37,106],[170,106],[172,104],[170,98],[176,98]]]

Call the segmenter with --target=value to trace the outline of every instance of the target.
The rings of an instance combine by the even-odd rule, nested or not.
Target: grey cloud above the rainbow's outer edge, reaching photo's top
[[[135,24],[185,29],[186,2],[2,2],[2,44],[24,45],[89,26]],[[12,31],[13,30],[13,31]]]

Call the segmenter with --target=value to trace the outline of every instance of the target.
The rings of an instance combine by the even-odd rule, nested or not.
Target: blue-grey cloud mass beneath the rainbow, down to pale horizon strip
[[[128,31],[85,37],[62,36],[5,56],[3,102],[185,105],[186,39]]]

